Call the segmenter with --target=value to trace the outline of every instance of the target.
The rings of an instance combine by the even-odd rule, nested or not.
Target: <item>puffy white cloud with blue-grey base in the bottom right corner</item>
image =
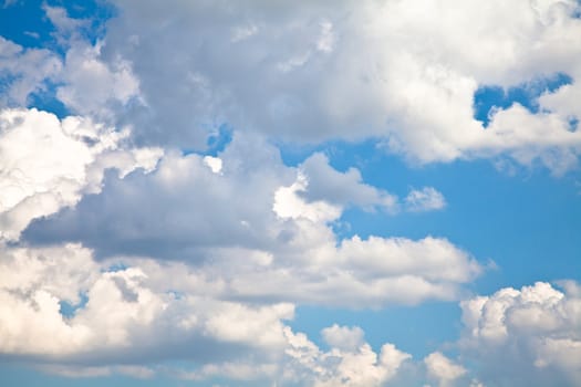
[[[463,302],[460,346],[479,362],[485,384],[581,381],[581,292],[574,282],[562,287],[537,282]]]

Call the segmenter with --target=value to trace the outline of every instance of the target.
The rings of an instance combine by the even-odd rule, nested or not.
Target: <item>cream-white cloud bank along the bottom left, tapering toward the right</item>
[[[391,344],[376,354],[361,328],[338,325],[323,330],[330,345],[324,352],[284,324],[293,317],[292,304],[224,301],[203,287],[176,292],[172,266],[149,273],[107,265],[79,244],[2,247],[1,269],[12,275],[0,281],[0,352],[43,359],[41,369],[71,377],[151,377],[162,367],[139,364],[179,357],[198,368],[165,372],[319,386],[376,386],[409,358]],[[71,314],[63,302],[74,305]]]

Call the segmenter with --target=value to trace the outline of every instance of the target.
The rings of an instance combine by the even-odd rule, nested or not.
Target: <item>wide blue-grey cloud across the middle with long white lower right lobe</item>
[[[339,172],[320,155],[287,167],[245,136],[217,159],[219,172],[207,157],[168,154],[151,174],[112,176],[101,194],[33,222],[25,239],[82,242],[101,259],[185,261],[208,290],[221,283],[222,296],[356,307],[452,300],[481,271],[442,238],[338,240],[330,222],[345,206],[396,201],[356,169]]]

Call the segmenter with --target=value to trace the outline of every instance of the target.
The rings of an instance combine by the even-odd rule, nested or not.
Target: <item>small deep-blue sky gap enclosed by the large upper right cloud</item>
[[[487,127],[495,109],[505,109],[515,103],[525,106],[531,113],[538,113],[538,98],[541,94],[552,93],[572,82],[573,79],[568,74],[556,73],[508,88],[498,85],[483,85],[474,94],[474,117]]]

